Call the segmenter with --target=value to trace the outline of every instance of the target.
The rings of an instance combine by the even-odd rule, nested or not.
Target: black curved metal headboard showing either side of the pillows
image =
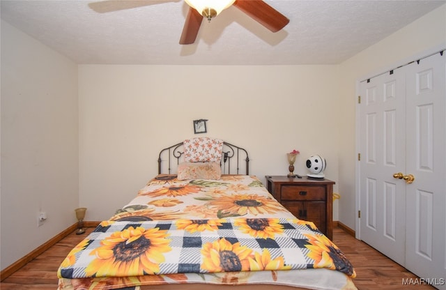
[[[183,142],[162,149],[158,156],[158,174],[162,174],[162,171],[164,171],[164,173],[167,171],[167,174],[176,173],[176,167],[183,161],[183,154]],[[233,174],[231,171],[233,172],[234,170],[236,171],[236,174],[240,174],[240,170],[243,169],[243,162],[241,162],[243,161],[243,158],[245,160],[246,175],[249,175],[249,156],[247,151],[239,146],[223,142],[222,160],[220,161],[222,174]],[[167,165],[165,163],[162,164],[163,161],[167,162]],[[240,168],[240,166],[242,168]]]

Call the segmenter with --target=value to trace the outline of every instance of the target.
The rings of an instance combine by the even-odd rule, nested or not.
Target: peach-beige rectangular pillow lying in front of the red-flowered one
[[[217,162],[182,162],[178,165],[177,179],[220,179],[222,169]]]

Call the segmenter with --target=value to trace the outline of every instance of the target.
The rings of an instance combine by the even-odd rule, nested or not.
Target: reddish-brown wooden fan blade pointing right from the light
[[[233,6],[236,6],[272,32],[279,31],[290,22],[282,13],[279,13],[262,0],[236,0]]]

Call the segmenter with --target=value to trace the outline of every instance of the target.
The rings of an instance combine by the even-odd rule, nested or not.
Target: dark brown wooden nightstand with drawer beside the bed
[[[314,178],[265,176],[268,191],[282,206],[300,220],[314,222],[320,231],[333,238],[334,181]]]

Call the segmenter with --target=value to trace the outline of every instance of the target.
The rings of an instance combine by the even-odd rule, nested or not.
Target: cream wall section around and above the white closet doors
[[[355,229],[355,107],[356,84],[366,77],[395,68],[413,56],[446,47],[446,5],[440,6],[339,66],[341,75],[339,106],[339,221]]]

